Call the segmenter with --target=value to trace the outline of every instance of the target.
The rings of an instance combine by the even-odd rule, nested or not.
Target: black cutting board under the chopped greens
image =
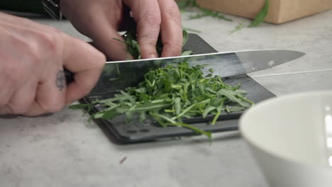
[[[189,34],[189,40],[187,45],[184,46],[185,50],[192,50],[194,54],[204,54],[216,52],[213,47],[202,40],[199,35]],[[267,98],[272,98],[275,95],[258,84],[256,81],[243,74],[240,76],[227,77],[223,79],[226,84],[237,85],[241,84],[240,89],[248,91],[247,98],[251,101],[258,103],[264,101]],[[96,99],[101,100],[105,98],[111,98],[114,96],[114,88],[107,86],[105,82],[99,79],[92,92],[82,99],[83,103],[91,103]],[[100,111],[101,108],[95,107],[93,111]],[[243,112],[223,114],[218,119],[216,125],[209,125],[206,119],[194,118],[192,121],[184,121],[185,123],[191,123],[201,130],[207,130],[211,132],[223,132],[228,130],[238,130],[238,118]],[[104,123],[106,128],[110,130],[111,135],[117,142],[143,142],[149,140],[165,139],[172,137],[182,137],[189,135],[196,135],[195,132],[186,128],[179,127],[167,127],[162,128],[160,125],[153,123],[152,120],[146,123],[140,123],[138,120],[131,120],[131,123],[126,124],[123,115],[116,117],[114,120],[96,120],[97,123]]]

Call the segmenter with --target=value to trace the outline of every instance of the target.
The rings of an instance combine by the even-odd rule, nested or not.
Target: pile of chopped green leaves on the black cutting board
[[[114,98],[70,108],[90,111],[100,105],[104,110],[94,113],[92,118],[112,120],[118,115],[126,115],[126,123],[129,123],[133,115],[139,115],[140,122],[153,118],[162,127],[182,126],[211,137],[211,132],[184,124],[182,120],[213,115],[211,125],[214,125],[221,113],[243,111],[253,102],[245,98],[245,91],[239,90],[240,85],[224,84],[220,77],[212,75],[212,69],[204,76],[202,69],[205,66],[189,67],[187,62],[182,62],[152,70],[138,86],[121,91]]]

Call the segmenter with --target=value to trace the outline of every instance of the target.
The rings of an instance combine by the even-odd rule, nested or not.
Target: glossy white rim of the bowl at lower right
[[[256,143],[257,141],[255,142],[251,137],[249,137],[248,134],[245,133],[245,131],[243,130],[244,129],[243,128],[243,122],[246,118],[248,118],[247,116],[250,115],[250,113],[255,113],[256,110],[258,110],[259,108],[261,108],[263,106],[267,106],[270,103],[275,103],[277,101],[287,99],[287,98],[298,98],[300,96],[317,96],[317,95],[331,95],[332,96],[332,90],[302,91],[302,92],[297,92],[297,93],[292,93],[292,94],[285,94],[285,95],[282,95],[282,96],[276,96],[274,98],[268,98],[265,101],[261,101],[257,105],[252,106],[251,108],[246,110],[243,113],[243,115],[240,116],[239,123],[238,123],[239,124],[240,135],[250,145],[252,145],[253,147],[256,147],[256,149],[259,149],[261,152],[265,152],[265,154],[270,154],[270,156],[272,156],[272,157],[277,157],[278,159],[283,159],[283,160],[286,160],[287,162],[294,163],[294,164],[299,164],[299,165],[303,165],[303,166],[316,166],[316,167],[319,167],[319,168],[325,168],[325,169],[331,170],[332,166],[323,165],[323,164],[309,164],[308,162],[301,162],[301,161],[298,161],[296,159],[292,159],[291,157],[287,157],[285,155],[279,154],[279,153],[277,153],[273,150],[265,149],[264,147],[262,147],[261,145]],[[253,156],[255,156],[255,155],[253,155]]]

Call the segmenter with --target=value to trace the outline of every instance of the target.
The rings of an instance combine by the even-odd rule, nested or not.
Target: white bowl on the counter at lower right
[[[258,103],[241,116],[240,132],[270,186],[332,186],[332,91]]]

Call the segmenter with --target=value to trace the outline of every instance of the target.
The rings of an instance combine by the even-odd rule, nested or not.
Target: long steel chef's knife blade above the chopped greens
[[[275,67],[303,55],[305,55],[304,52],[293,50],[248,50],[148,60],[110,61],[106,62],[102,76],[110,80],[131,79],[134,74],[143,74],[150,69],[188,62],[190,66],[208,64],[207,69],[214,69],[214,74],[220,77],[231,77]],[[66,78],[67,82],[73,80],[70,72],[66,72]]]

